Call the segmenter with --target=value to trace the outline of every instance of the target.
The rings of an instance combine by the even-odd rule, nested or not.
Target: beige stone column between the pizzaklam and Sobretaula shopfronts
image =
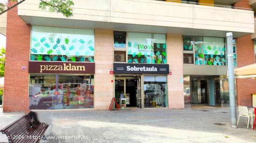
[[[107,110],[114,95],[113,30],[95,29],[94,109]]]

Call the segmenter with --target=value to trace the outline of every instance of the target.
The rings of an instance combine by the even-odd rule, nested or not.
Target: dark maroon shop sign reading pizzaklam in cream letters
[[[28,72],[34,74],[94,74],[95,63],[29,62]]]

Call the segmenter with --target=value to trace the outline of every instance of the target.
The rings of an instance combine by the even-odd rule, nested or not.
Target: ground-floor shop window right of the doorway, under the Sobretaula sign
[[[167,76],[144,76],[144,107],[167,107]]]

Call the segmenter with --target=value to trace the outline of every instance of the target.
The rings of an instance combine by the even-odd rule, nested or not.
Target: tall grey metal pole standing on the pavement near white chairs
[[[228,71],[229,71],[229,106],[231,127],[237,128],[236,125],[236,95],[235,95],[235,75],[234,75],[234,59],[233,59],[233,34],[227,33],[227,48],[228,48]]]

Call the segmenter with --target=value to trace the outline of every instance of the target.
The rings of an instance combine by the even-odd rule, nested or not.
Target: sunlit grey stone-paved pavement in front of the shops
[[[229,108],[36,112],[50,125],[40,143],[256,143],[245,118],[230,127]]]

